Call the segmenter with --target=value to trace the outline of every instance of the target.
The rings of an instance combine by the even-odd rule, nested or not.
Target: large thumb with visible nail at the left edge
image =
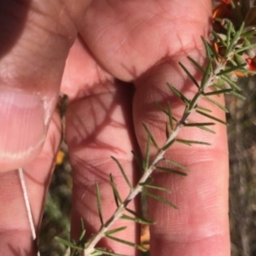
[[[65,1],[0,2],[0,172],[44,144],[76,28]]]

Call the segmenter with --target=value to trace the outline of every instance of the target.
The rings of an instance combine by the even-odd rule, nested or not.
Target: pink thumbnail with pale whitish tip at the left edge
[[[38,95],[0,89],[0,171],[31,159],[44,143],[45,132]]]

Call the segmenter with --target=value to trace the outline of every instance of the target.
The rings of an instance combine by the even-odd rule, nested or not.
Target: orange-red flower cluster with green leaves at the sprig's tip
[[[244,65],[234,75],[243,77],[256,74],[256,6],[253,1],[216,0],[218,5],[213,9],[213,31],[210,38],[214,50],[218,53],[218,61],[226,52],[230,42],[241,26],[242,32],[236,45],[229,52],[227,68]]]

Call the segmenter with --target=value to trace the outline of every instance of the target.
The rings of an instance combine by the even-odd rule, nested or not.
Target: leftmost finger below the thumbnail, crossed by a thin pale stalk
[[[60,131],[60,119],[55,113],[53,121],[49,125],[44,148],[36,160],[23,168],[37,234],[42,218],[46,190],[61,141]],[[32,239],[18,172],[0,173],[0,179],[0,254],[33,256],[37,251],[37,241]]]

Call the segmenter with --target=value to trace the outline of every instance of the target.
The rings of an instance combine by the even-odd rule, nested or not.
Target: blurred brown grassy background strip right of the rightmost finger
[[[226,97],[230,146],[232,256],[256,255],[256,79],[241,79],[246,101]]]

